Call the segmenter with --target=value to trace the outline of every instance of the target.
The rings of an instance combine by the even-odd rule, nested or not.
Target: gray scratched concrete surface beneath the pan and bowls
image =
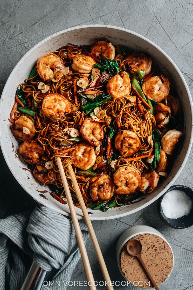
[[[52,33],[80,24],[109,24],[124,27],[159,45],[174,60],[193,92],[193,17],[192,1],[180,0],[73,0],[32,1],[1,0],[0,9],[0,87],[21,57]],[[34,200],[19,186],[1,155],[0,218],[33,209]],[[178,184],[193,187],[193,151],[177,179]],[[174,251],[174,269],[161,290],[193,290],[192,228],[171,229],[159,219],[156,203],[133,215],[109,221],[93,222],[111,279],[122,281],[115,259],[115,247],[121,233],[129,226],[147,224],[158,229]],[[87,250],[95,280],[103,280],[91,240]],[[86,280],[82,261],[74,269],[72,280]],[[85,289],[85,287],[69,287]],[[105,287],[98,287],[105,289]],[[134,289],[119,287],[114,289]]]

